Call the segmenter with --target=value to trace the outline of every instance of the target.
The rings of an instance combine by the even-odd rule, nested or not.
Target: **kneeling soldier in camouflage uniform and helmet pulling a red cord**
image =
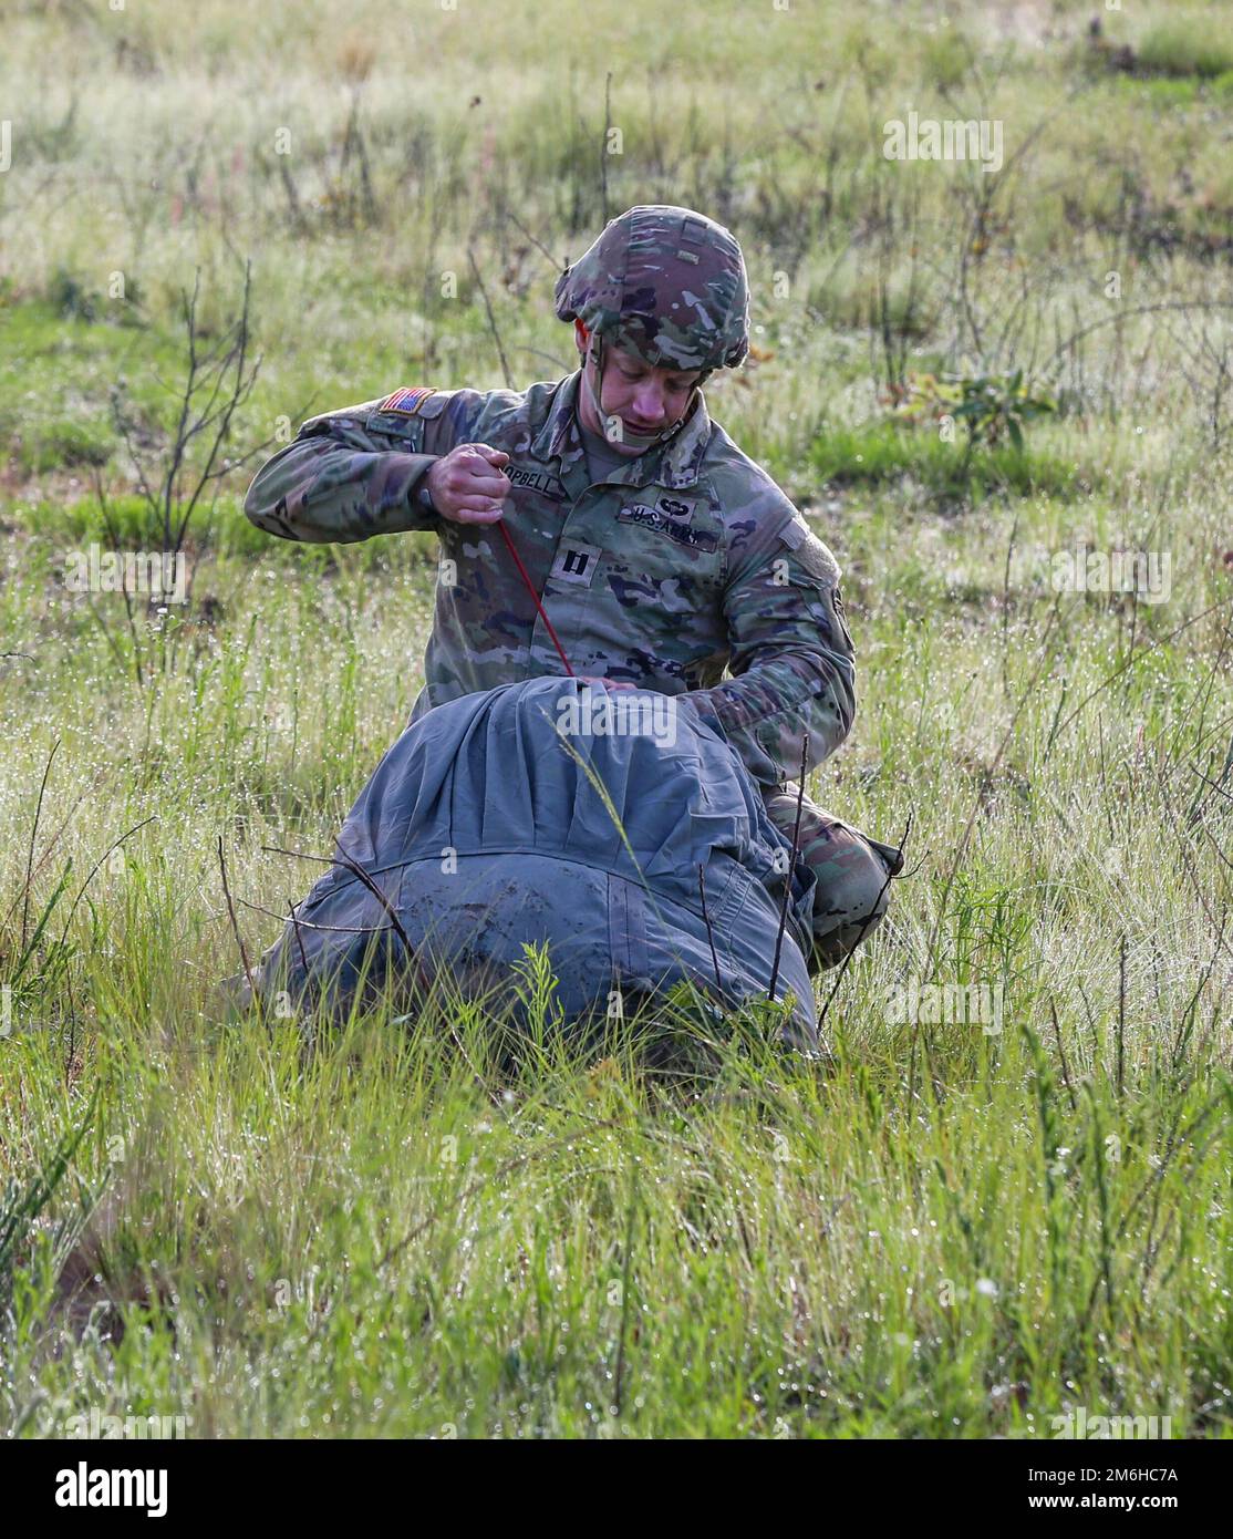
[[[574,374],[312,417],[245,511],[288,540],[437,532],[451,580],[413,720],[566,659],[616,688],[688,693],[791,837],[802,751],[817,765],[851,728],[853,643],[834,557],[702,396],[748,351],[740,246],[690,209],[628,209],[560,275],[556,312]],[[813,960],[831,966],[880,922],[899,856],[808,799],[800,846]]]

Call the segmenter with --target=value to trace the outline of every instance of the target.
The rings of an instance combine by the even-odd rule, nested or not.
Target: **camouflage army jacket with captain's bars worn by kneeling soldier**
[[[856,709],[839,568],[699,392],[665,445],[591,483],[580,372],[525,392],[400,389],[312,417],[256,476],[245,511],[288,540],[440,537],[436,619],[413,720],[477,689],[563,673],[493,525],[416,492],[460,443],[510,456],[505,525],[577,674],[690,691],[764,786],[819,763]],[[725,679],[725,668],[731,677]]]

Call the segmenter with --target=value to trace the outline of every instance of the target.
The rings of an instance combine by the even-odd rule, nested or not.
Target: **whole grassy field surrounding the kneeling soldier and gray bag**
[[[0,1428],[1230,1436],[1233,6],[11,9]],[[911,111],[996,120],[1001,169],[885,159]],[[554,271],[637,202],[745,245],[756,349],[708,406],[836,553],[857,646],[810,791],[911,817],[911,874],[819,979],[827,1065],[770,1011],[705,1076],[628,1027],[582,1060],[530,965],[517,1071],[500,1002],[306,1051],[216,996],[220,840],[257,954],[245,903],[308,885],[262,846],[328,848],[406,720],[436,557],[269,540],[245,486],[312,411],[566,371]],[[183,295],[225,351],[246,265],[188,602],[74,591],[74,553],[185,511],[208,432],[162,512],[140,483]],[[927,376],[1005,412],[968,442]],[[1101,591],[1118,553],[1167,582]],[[999,1017],[897,1019],[913,982]]]

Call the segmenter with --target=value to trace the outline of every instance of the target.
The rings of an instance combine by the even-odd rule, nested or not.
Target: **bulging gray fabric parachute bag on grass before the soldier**
[[[600,716],[605,699],[627,716]],[[650,729],[588,731],[622,719]],[[603,1014],[613,990],[637,999],[691,980],[714,997],[699,866],[720,997],[765,999],[791,863],[739,757],[687,697],[557,677],[414,722],[360,793],[339,854],[265,957],[262,991],[340,1014],[357,990],[445,971],[482,996],[546,945],[568,1020]],[[797,862],[791,880],[776,996],[796,1000],[785,1042],[813,1050],[814,877]]]

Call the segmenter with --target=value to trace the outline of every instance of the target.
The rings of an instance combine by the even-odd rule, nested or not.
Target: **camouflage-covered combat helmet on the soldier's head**
[[[627,209],[557,279],[557,315],[650,368],[734,368],[750,351],[750,283],[736,237],[667,203]]]

